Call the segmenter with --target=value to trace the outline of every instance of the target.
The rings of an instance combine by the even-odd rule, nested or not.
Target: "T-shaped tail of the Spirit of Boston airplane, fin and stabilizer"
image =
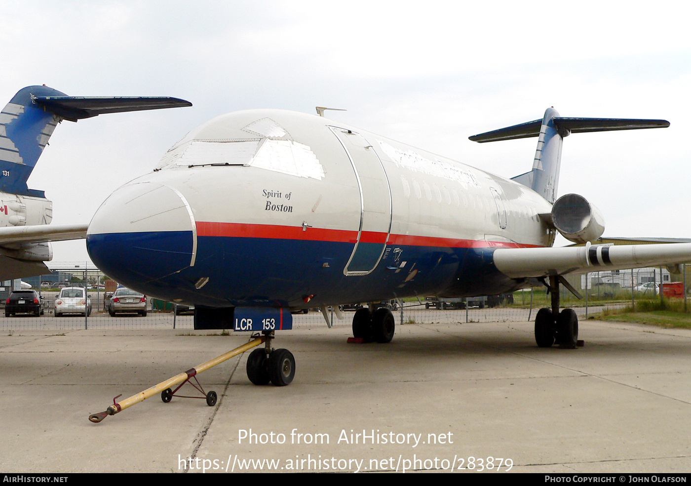
[[[549,203],[556,200],[564,137],[588,131],[635,130],[666,128],[667,120],[634,120],[623,118],[563,118],[553,108],[545,111],[542,120],[513,125],[469,137],[473,142],[498,142],[515,138],[539,137],[533,170],[513,180],[536,191]]]

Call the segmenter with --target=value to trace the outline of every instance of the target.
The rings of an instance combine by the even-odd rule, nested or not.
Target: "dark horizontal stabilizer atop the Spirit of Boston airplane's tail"
[[[565,118],[551,119],[562,137],[569,133],[585,133],[589,131],[638,130],[656,129],[670,126],[667,120],[642,120],[634,118]],[[486,131],[468,137],[473,142],[498,142],[500,140],[514,140],[516,138],[537,137],[540,135],[542,120],[533,120],[503,129]]]

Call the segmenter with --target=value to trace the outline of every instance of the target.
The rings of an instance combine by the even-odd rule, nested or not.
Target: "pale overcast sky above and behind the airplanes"
[[[487,5],[487,6],[485,6]],[[191,108],[62,122],[29,179],[54,223],[83,223],[189,130],[280,108],[512,177],[536,139],[469,135],[562,116],[663,118],[668,129],[571,135],[558,194],[609,236],[691,237],[691,41],[684,2],[0,1],[0,104],[23,86],[174,96]],[[562,243],[565,243],[562,240]],[[84,261],[83,242],[54,261]]]

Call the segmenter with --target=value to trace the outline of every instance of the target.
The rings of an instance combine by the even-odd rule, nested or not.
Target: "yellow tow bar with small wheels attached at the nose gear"
[[[140,391],[140,393],[137,393],[136,395],[132,395],[130,398],[126,398],[125,400],[122,400],[122,402],[115,402],[118,398],[122,397],[122,394],[117,395],[117,397],[113,398],[113,404],[111,406],[108,406],[106,411],[104,412],[99,412],[99,413],[94,413],[93,415],[89,415],[88,420],[91,420],[91,422],[94,422],[97,424],[98,422],[101,422],[104,418],[106,418],[108,415],[115,415],[115,413],[121,412],[124,409],[128,408],[129,406],[132,406],[134,404],[137,404],[139,402],[143,402],[147,398],[151,398],[153,395],[156,395],[157,393],[161,394],[161,400],[164,402],[170,402],[171,399],[173,398],[173,395],[175,394],[175,391],[178,391],[180,389],[180,386],[185,384],[186,382],[189,382],[189,379],[192,377],[195,377],[198,375],[198,373],[201,373],[202,371],[207,371],[209,368],[213,368],[217,364],[221,364],[231,357],[237,356],[241,353],[245,353],[245,351],[252,349],[256,346],[259,346],[263,342],[267,342],[267,346],[269,345],[268,343],[271,342],[272,335],[266,334],[261,337],[257,337],[256,339],[253,339],[252,341],[248,342],[247,344],[243,344],[243,346],[238,346],[237,348],[228,351],[227,353],[224,353],[223,355],[220,355],[218,357],[215,357],[214,359],[211,359],[210,361],[207,361],[205,363],[202,363],[198,366],[195,366],[194,368],[190,368],[189,370],[185,371],[184,373],[180,373],[179,375],[173,376],[172,378],[169,378],[169,380],[166,380],[164,382],[160,382],[157,385],[151,386],[151,388],[147,388],[144,391]],[[196,377],[194,378],[196,381]],[[178,388],[175,389],[175,391],[172,390],[173,386],[176,386],[176,384],[180,384]],[[201,385],[196,386],[195,384],[191,383],[192,386],[194,386],[196,389],[198,389],[202,394],[204,393],[204,390],[201,388]],[[197,382],[199,384],[199,382]],[[182,396],[182,395],[178,395]],[[205,397],[184,397],[184,398],[206,398],[207,399],[207,405],[209,406],[214,406],[216,404],[216,399],[218,398],[216,395],[215,391],[209,391],[205,395]]]

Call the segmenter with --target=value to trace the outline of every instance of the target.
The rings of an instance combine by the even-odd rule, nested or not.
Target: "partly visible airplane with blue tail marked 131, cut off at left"
[[[26,181],[62,120],[140,111],[190,102],[171,97],[74,97],[26,86],[0,113],[0,281],[50,273],[50,241],[86,238],[86,224],[50,225],[53,203]]]

